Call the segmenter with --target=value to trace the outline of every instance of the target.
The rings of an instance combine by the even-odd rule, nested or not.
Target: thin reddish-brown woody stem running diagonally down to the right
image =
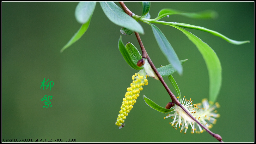
[[[125,6],[124,2],[119,2],[119,4],[121,5],[121,7],[123,8],[123,10],[125,11],[126,14],[132,16],[132,12]],[[211,136],[213,136],[214,138],[216,138],[218,141],[223,142],[222,141],[222,137],[218,134],[215,134],[213,132],[211,132],[210,130],[208,130],[204,125],[202,125],[197,119],[195,119],[178,101],[178,99],[174,96],[174,94],[172,93],[172,91],[169,89],[169,87],[167,86],[167,84],[164,82],[162,76],[159,74],[159,72],[157,71],[157,69],[155,68],[155,65],[153,64],[153,62],[151,61],[151,59],[149,58],[148,53],[145,50],[145,47],[143,46],[143,43],[140,39],[140,36],[137,32],[134,32],[137,40],[139,42],[141,51],[142,51],[142,55],[143,58],[147,58],[148,62],[151,66],[151,68],[153,69],[153,71],[155,72],[155,74],[157,75],[158,79],[161,81],[162,85],[164,86],[164,88],[166,89],[166,91],[168,92],[168,94],[170,95],[173,103],[175,103],[176,105],[178,105],[180,108],[182,108],[195,122],[198,123],[198,125],[200,125],[202,128],[204,128]]]

